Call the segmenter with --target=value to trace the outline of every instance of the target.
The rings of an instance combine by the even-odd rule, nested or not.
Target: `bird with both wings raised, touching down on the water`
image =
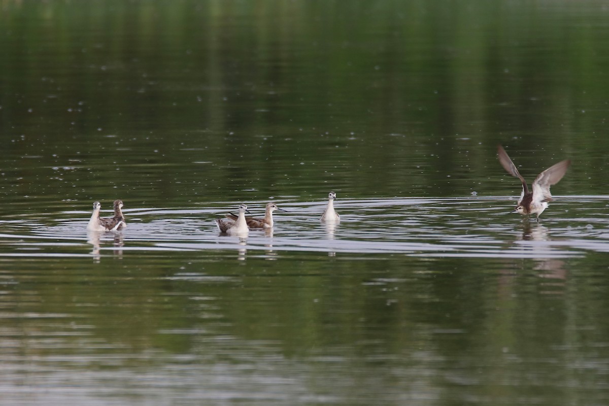
[[[518,169],[516,169],[516,166],[512,163],[512,159],[507,156],[507,152],[505,152],[501,145],[498,145],[497,154],[501,166],[507,170],[507,173],[513,177],[519,178],[523,183],[523,192],[518,199],[518,206],[516,206],[512,213],[519,213],[522,215],[536,214],[537,221],[539,221],[540,214],[547,208],[548,203],[552,201],[550,186],[557,184],[558,181],[565,176],[569,165],[571,165],[571,160],[565,159],[564,161],[560,161],[537,175],[537,178],[533,181],[533,191],[529,192],[526,181],[520,175]]]

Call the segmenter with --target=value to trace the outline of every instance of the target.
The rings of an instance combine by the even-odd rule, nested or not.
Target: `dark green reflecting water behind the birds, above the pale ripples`
[[[5,185],[21,196],[513,193],[498,142],[527,178],[568,156],[559,192],[601,190],[602,2],[4,7],[3,183],[29,180]]]

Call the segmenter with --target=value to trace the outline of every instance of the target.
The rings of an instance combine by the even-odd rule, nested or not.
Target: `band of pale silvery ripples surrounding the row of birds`
[[[145,208],[126,212],[128,228],[87,233],[88,212],[63,212],[2,222],[2,256],[80,256],[121,251],[238,250],[320,253],[408,254],[429,257],[580,256],[609,251],[607,197],[557,197],[542,221],[504,215],[504,197],[388,198],[341,200],[339,225],[323,225],[325,203],[281,201],[289,212],[275,215],[275,228],[252,230],[245,239],[219,236],[213,219],[225,205],[205,209]],[[264,203],[250,205],[255,213]],[[592,213],[594,215],[592,215]],[[72,217],[66,218],[66,214]],[[52,216],[51,216],[52,217]],[[51,224],[49,224],[51,222]],[[25,252],[27,251],[27,253]]]

